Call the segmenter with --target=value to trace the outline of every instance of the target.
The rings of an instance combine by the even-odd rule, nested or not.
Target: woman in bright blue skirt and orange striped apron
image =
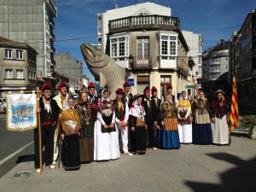
[[[180,148],[177,131],[177,107],[172,95],[166,94],[166,101],[161,104],[161,129],[159,148]]]

